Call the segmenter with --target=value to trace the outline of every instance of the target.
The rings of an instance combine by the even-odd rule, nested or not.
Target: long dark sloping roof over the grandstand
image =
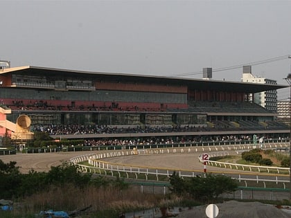
[[[269,91],[276,89],[283,89],[289,87],[288,85],[279,84],[257,84],[250,82],[230,82],[220,80],[202,80],[202,79],[189,79],[189,78],[173,78],[173,77],[161,77],[152,75],[134,75],[128,73],[101,73],[91,71],[75,71],[69,69],[53,69],[39,66],[19,66],[14,68],[2,69],[0,75],[6,75],[9,73],[17,74],[30,74],[30,75],[51,75],[51,76],[76,76],[84,77],[88,75],[90,78],[96,78],[98,80],[114,80],[127,82],[146,82],[146,83],[164,83],[174,85],[186,85],[189,89],[200,90],[218,90],[218,91],[231,91],[238,93],[258,93],[261,91]]]

